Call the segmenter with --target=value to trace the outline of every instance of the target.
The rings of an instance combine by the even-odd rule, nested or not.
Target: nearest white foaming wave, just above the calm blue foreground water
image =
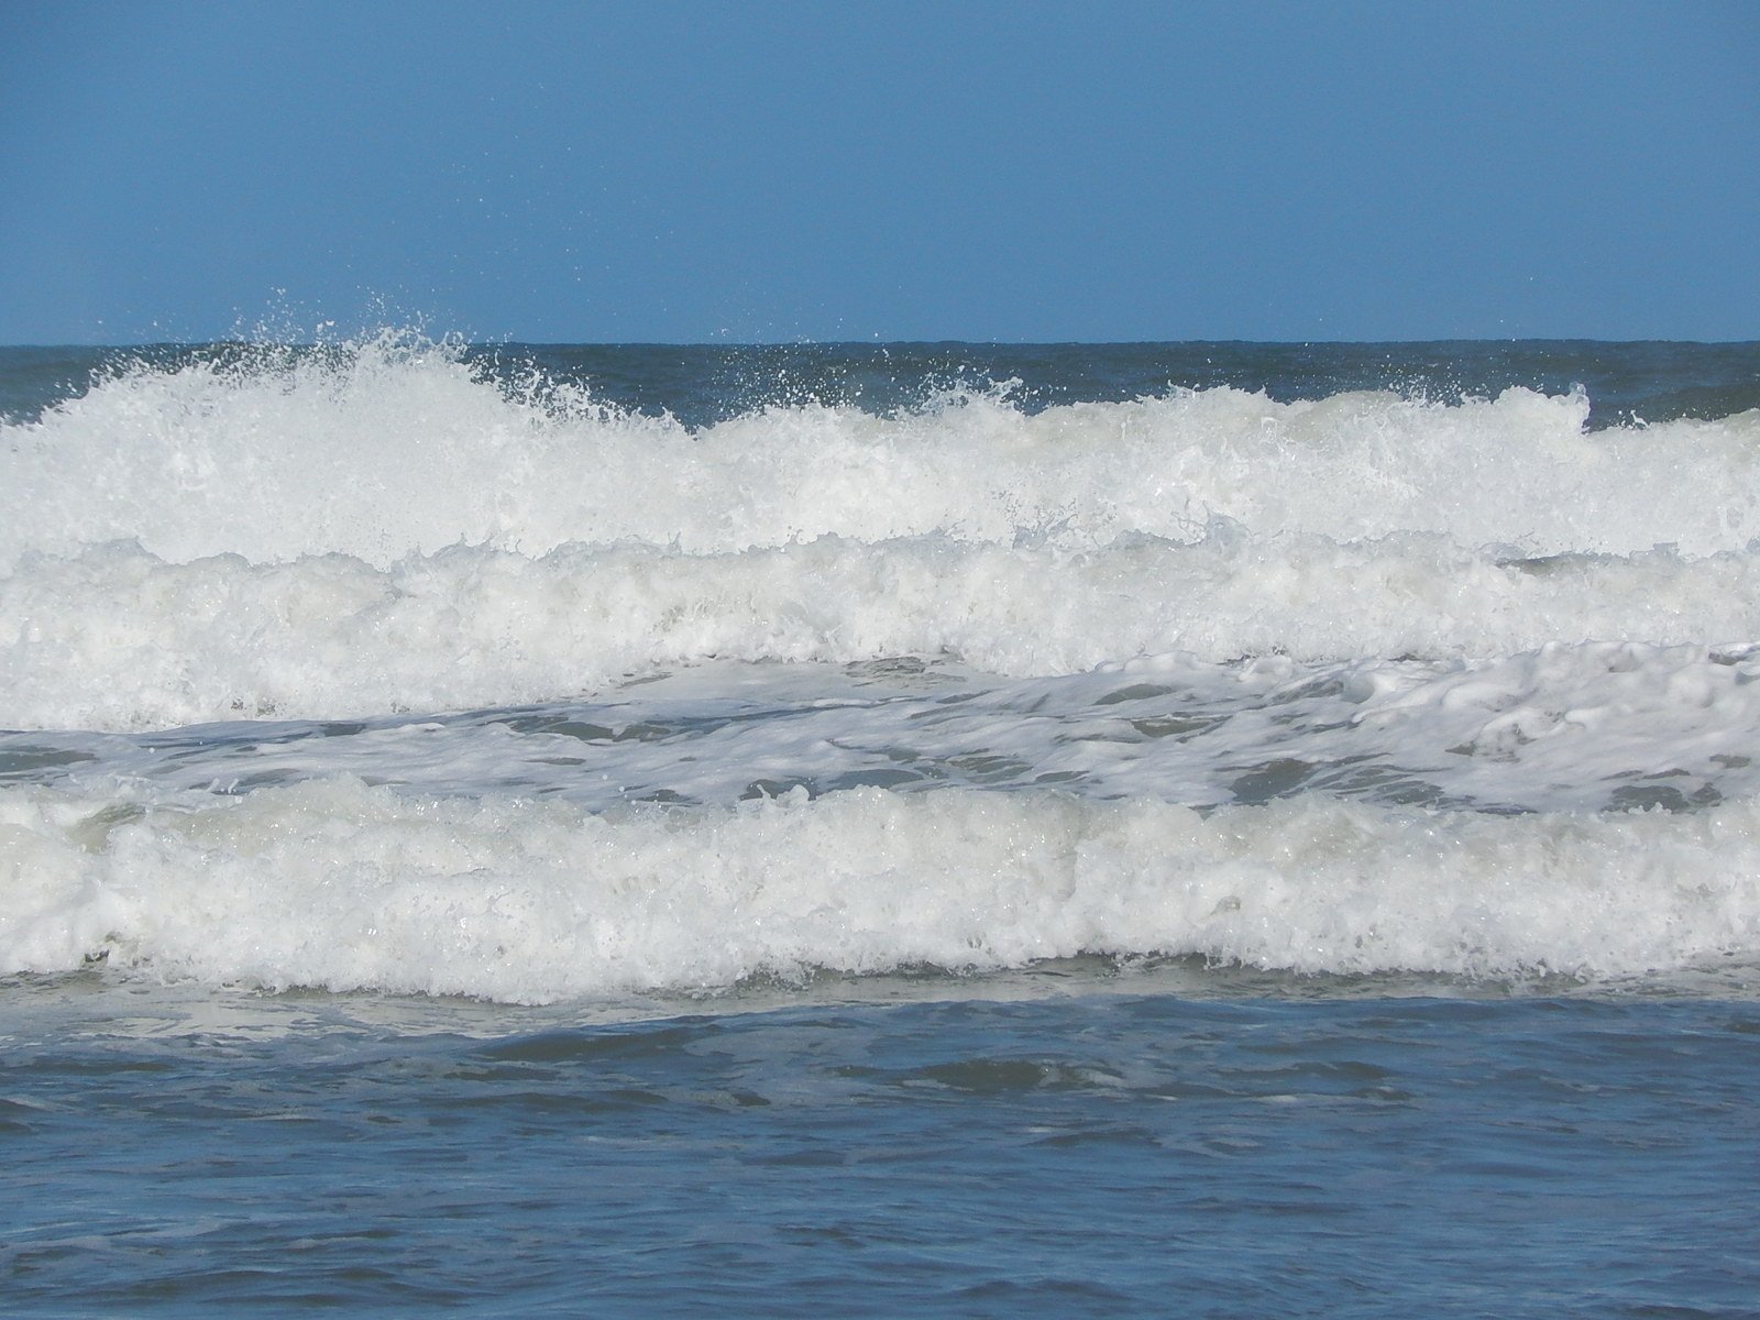
[[[0,970],[544,1001],[808,968],[1202,954],[1621,977],[1760,945],[1760,808],[1424,815],[857,790],[590,815],[357,780],[0,794]]]

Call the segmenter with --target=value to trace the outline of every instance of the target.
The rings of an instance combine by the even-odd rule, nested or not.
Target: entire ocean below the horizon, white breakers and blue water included
[[[1760,1315],[1760,345],[0,348],[0,1311]]]

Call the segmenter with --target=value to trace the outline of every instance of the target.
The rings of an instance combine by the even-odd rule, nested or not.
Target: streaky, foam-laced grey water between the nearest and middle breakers
[[[1144,656],[1014,679],[716,662],[454,716],[0,734],[0,776],[241,792],[336,774],[591,810],[803,785],[1056,785],[1188,806],[1322,792],[1480,811],[1695,810],[1760,792],[1760,658],[1637,642],[1501,660]]]

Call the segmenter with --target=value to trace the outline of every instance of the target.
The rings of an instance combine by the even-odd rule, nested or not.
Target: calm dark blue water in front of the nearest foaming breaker
[[[1756,1313],[1755,1005],[1292,989],[468,1035],[134,991],[7,1042],[5,1311]]]

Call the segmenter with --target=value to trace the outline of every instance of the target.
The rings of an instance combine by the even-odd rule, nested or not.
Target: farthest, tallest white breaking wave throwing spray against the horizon
[[[697,431],[526,398],[385,336],[326,357],[136,368],[0,428],[0,568],[139,540],[183,563],[635,540],[725,554],[836,535],[1095,549],[1434,533],[1522,554],[1684,556],[1760,535],[1760,415],[1584,433],[1582,396],[1445,407],[1236,389],[1028,414],[1001,391],[892,417],[771,407]]]

